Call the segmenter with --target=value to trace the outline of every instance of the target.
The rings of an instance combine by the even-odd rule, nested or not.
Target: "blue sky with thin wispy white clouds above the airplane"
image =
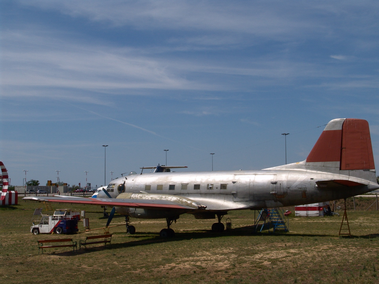
[[[379,2],[0,2],[0,161],[11,184],[139,167],[303,161],[335,118],[379,163]]]

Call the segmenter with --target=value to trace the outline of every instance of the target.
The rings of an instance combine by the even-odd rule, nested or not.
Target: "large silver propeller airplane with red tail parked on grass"
[[[217,217],[212,231],[221,232],[221,218],[228,211],[337,200],[379,188],[370,130],[362,119],[331,120],[302,162],[258,171],[169,172],[167,168],[114,179],[96,198],[23,199],[113,206],[107,226],[114,212],[127,220],[166,218],[167,229],[160,236],[172,237],[172,222],[185,213],[196,219]]]

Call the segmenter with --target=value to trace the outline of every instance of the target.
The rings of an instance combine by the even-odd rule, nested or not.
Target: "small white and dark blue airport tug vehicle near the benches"
[[[42,215],[39,224],[30,227],[30,232],[38,234],[70,234],[76,233],[80,221],[80,212],[71,209],[56,209],[53,215]]]

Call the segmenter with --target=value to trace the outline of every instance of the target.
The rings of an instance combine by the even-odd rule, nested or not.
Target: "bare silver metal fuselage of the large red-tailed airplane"
[[[111,190],[113,187],[110,194],[117,196],[117,187],[125,182],[125,193],[142,192],[143,198],[149,198],[149,195],[174,195],[200,203],[206,201],[208,212],[309,204],[347,198],[373,190],[370,185],[344,190],[323,190],[316,184],[319,180],[327,179],[361,180],[349,177],[349,171],[345,172],[346,175],[341,175],[340,171],[330,173],[299,169],[147,173],[114,179],[108,188]],[[130,197],[123,197],[121,194],[117,198]],[[138,198],[137,195],[135,198]],[[144,218],[144,214],[133,214],[134,209],[133,212],[125,212],[125,208],[117,208],[117,212],[120,211],[131,217]],[[156,218],[162,217],[156,215]]]

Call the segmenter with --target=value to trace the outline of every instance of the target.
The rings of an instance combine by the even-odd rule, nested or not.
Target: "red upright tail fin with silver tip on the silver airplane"
[[[325,127],[305,165],[334,170],[375,170],[370,129],[364,119],[334,119]]]

